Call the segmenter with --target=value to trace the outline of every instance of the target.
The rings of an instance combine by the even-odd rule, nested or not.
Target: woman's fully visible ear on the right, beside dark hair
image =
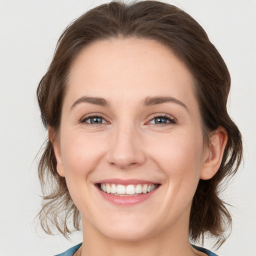
[[[227,142],[227,131],[224,127],[218,126],[209,138],[209,145],[204,153],[201,179],[209,179],[217,172]]]

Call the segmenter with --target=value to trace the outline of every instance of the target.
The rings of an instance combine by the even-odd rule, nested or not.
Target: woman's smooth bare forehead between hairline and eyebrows
[[[171,49],[151,39],[114,38],[85,47],[73,61],[67,95],[107,99],[193,97],[193,77]]]

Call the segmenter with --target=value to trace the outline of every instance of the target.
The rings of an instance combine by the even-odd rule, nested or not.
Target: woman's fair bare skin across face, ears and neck
[[[205,255],[189,243],[189,212],[199,178],[211,178],[220,165],[227,134],[219,127],[205,146],[193,84],[185,65],[154,40],[98,41],[74,60],[60,129],[55,134],[49,127],[49,137],[57,171],[82,215],[76,255]],[[108,105],[78,100],[84,96]],[[185,106],[143,104],[156,96]],[[91,115],[102,123],[89,123]],[[155,123],[156,116],[167,123]],[[105,178],[161,185],[143,202],[115,205],[94,185]]]

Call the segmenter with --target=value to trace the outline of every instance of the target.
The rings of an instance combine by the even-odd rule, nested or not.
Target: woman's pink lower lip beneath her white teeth
[[[148,199],[149,197],[151,197],[156,190],[158,190],[159,186],[157,186],[153,191],[149,192],[149,193],[145,193],[145,194],[138,194],[138,195],[133,195],[133,196],[119,196],[119,195],[114,195],[111,193],[106,193],[103,192],[102,190],[100,190],[99,188],[98,191],[101,194],[101,196],[113,203],[113,204],[117,204],[117,205],[132,205],[132,204],[137,204],[140,202],[145,201],[146,199]]]

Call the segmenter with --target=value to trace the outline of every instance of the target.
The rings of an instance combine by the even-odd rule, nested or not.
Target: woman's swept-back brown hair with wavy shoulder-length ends
[[[159,1],[125,4],[112,1],[90,9],[72,22],[60,36],[51,64],[39,82],[37,99],[45,127],[58,130],[66,78],[81,49],[97,40],[117,37],[148,38],[169,47],[194,76],[204,141],[223,126],[228,133],[221,165],[208,180],[199,180],[193,197],[189,232],[193,240],[210,234],[220,245],[231,227],[231,216],[219,198],[221,183],[232,176],[242,159],[241,134],[230,119],[226,101],[230,88],[227,67],[203,28],[186,12]],[[38,164],[43,203],[38,214],[42,228],[52,234],[52,225],[65,237],[71,232],[69,217],[79,229],[79,212],[67,190],[65,178],[57,174],[52,143],[47,138]]]

